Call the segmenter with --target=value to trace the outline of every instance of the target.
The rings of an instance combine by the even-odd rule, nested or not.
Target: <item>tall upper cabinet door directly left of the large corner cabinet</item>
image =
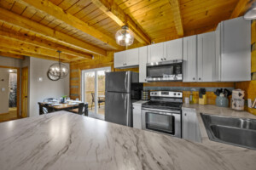
[[[198,82],[213,82],[216,70],[215,32],[197,36],[197,77]]]

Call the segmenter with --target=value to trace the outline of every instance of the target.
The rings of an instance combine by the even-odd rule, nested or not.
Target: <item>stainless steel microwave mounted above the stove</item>
[[[183,60],[148,63],[146,80],[148,82],[183,81]]]

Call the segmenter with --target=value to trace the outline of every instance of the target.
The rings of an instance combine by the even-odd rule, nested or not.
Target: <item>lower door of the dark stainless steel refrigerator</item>
[[[105,121],[132,127],[131,94],[106,92]]]

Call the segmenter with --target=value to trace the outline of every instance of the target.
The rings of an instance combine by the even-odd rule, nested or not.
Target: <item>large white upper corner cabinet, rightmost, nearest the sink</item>
[[[220,81],[250,81],[251,21],[239,17],[221,22],[216,30],[216,40]]]

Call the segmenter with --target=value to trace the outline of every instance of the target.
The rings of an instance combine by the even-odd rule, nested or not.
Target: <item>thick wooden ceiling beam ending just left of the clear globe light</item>
[[[27,7],[34,8],[39,10],[41,13],[45,14],[49,19],[60,20],[61,22],[67,23],[69,26],[83,31],[84,33],[95,37],[96,39],[108,43],[113,49],[121,49],[113,37],[108,37],[106,34],[101,31],[97,31],[94,27],[89,26],[83,20],[79,20],[77,17],[72,14],[67,13],[62,8],[56,6],[54,3],[51,3],[49,0],[16,0]]]

